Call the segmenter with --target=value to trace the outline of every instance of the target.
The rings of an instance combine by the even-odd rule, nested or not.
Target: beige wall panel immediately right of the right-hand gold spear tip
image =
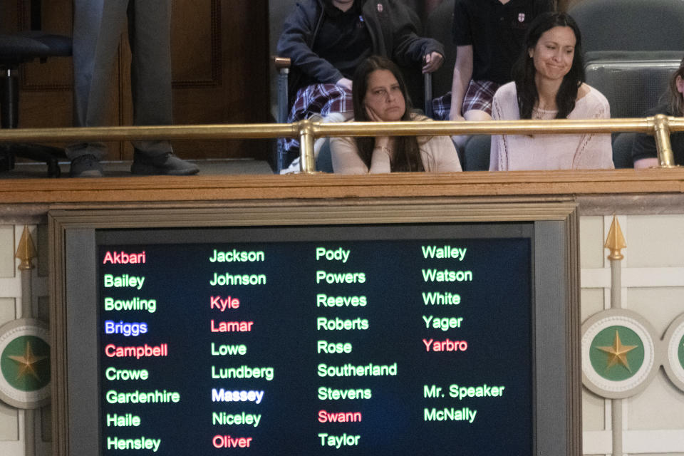
[[[634,267],[684,266],[682,215],[632,215],[628,217],[628,265]],[[684,307],[683,307],[684,309]]]

